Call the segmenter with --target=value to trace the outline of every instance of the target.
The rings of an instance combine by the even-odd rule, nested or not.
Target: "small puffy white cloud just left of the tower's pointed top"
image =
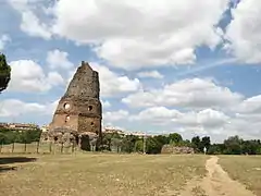
[[[47,54],[47,63],[51,69],[72,69],[74,65],[67,59],[69,53],[58,49],[49,51]]]

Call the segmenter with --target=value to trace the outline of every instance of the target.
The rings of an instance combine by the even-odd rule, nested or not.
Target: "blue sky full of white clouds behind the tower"
[[[103,126],[260,139],[260,0],[1,0],[0,121],[50,123],[87,61]]]

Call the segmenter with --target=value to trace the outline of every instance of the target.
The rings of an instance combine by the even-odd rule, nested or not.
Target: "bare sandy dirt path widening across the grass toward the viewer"
[[[233,181],[212,156],[206,162],[208,174],[202,180],[187,183],[181,196],[254,196],[253,193],[237,181]]]

